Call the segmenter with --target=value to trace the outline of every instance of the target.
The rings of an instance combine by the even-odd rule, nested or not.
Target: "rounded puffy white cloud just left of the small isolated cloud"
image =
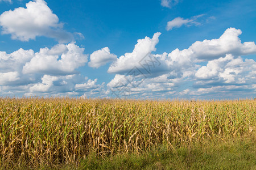
[[[41,73],[51,75],[75,74],[76,69],[87,62],[84,48],[74,43],[42,48],[30,62],[23,66],[23,73]]]

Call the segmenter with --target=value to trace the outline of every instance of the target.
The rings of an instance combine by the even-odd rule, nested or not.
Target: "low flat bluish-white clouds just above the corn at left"
[[[6,86],[6,81],[19,79],[18,73],[0,74],[0,94],[15,96],[104,96],[104,83],[97,84],[97,79],[86,80],[81,75],[43,75],[40,79],[25,85]]]

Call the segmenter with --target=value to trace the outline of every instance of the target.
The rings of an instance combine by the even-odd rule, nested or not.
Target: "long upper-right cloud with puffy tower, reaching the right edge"
[[[240,29],[228,28],[219,39],[196,41],[188,49],[175,49],[169,55],[173,56],[172,58],[179,58],[178,56],[181,55],[198,61],[208,61],[223,57],[226,54],[241,56],[256,53],[255,42],[241,43],[238,37],[241,33]]]

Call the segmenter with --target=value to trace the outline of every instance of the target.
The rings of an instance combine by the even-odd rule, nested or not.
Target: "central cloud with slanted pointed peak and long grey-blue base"
[[[150,78],[165,73],[172,73],[180,77],[189,70],[195,70],[197,66],[192,62],[193,52],[191,50],[176,49],[169,54],[151,54],[156,50],[155,45],[159,42],[159,36],[160,33],[155,33],[152,39],[145,37],[145,39],[138,40],[133,52],[119,57],[110,65],[108,72],[144,75]]]

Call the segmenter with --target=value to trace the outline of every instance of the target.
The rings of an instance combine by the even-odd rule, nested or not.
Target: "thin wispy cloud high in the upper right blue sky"
[[[180,28],[182,25],[187,25],[187,26],[190,26],[192,24],[200,25],[201,23],[196,22],[196,19],[200,18],[201,16],[204,16],[204,14],[193,16],[191,19],[183,19],[183,18],[177,17],[167,23],[166,30],[170,31],[172,30],[172,28],[175,28],[175,27]]]

